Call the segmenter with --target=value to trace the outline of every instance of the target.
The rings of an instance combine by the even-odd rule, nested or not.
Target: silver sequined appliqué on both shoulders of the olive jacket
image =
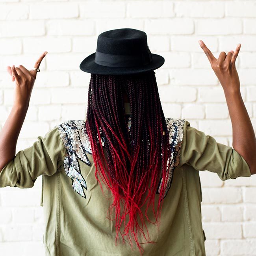
[[[126,115],[128,132],[130,132],[131,116]],[[167,129],[170,130],[169,142],[171,145],[171,161],[169,176],[167,177],[167,189],[164,197],[167,195],[171,182],[173,179],[173,170],[179,163],[180,148],[183,138],[184,119],[166,118]],[[67,176],[72,180],[72,187],[79,195],[86,198],[83,187],[87,190],[87,184],[81,174],[80,164],[78,159],[85,164],[91,166],[87,157],[92,154],[89,136],[86,132],[84,120],[68,120],[62,124],[57,125],[60,137],[66,148],[66,155],[64,158],[64,169]],[[102,146],[104,146],[104,139],[101,139]],[[162,178],[160,180],[156,193],[160,193]],[[163,197],[163,198],[164,198]]]

